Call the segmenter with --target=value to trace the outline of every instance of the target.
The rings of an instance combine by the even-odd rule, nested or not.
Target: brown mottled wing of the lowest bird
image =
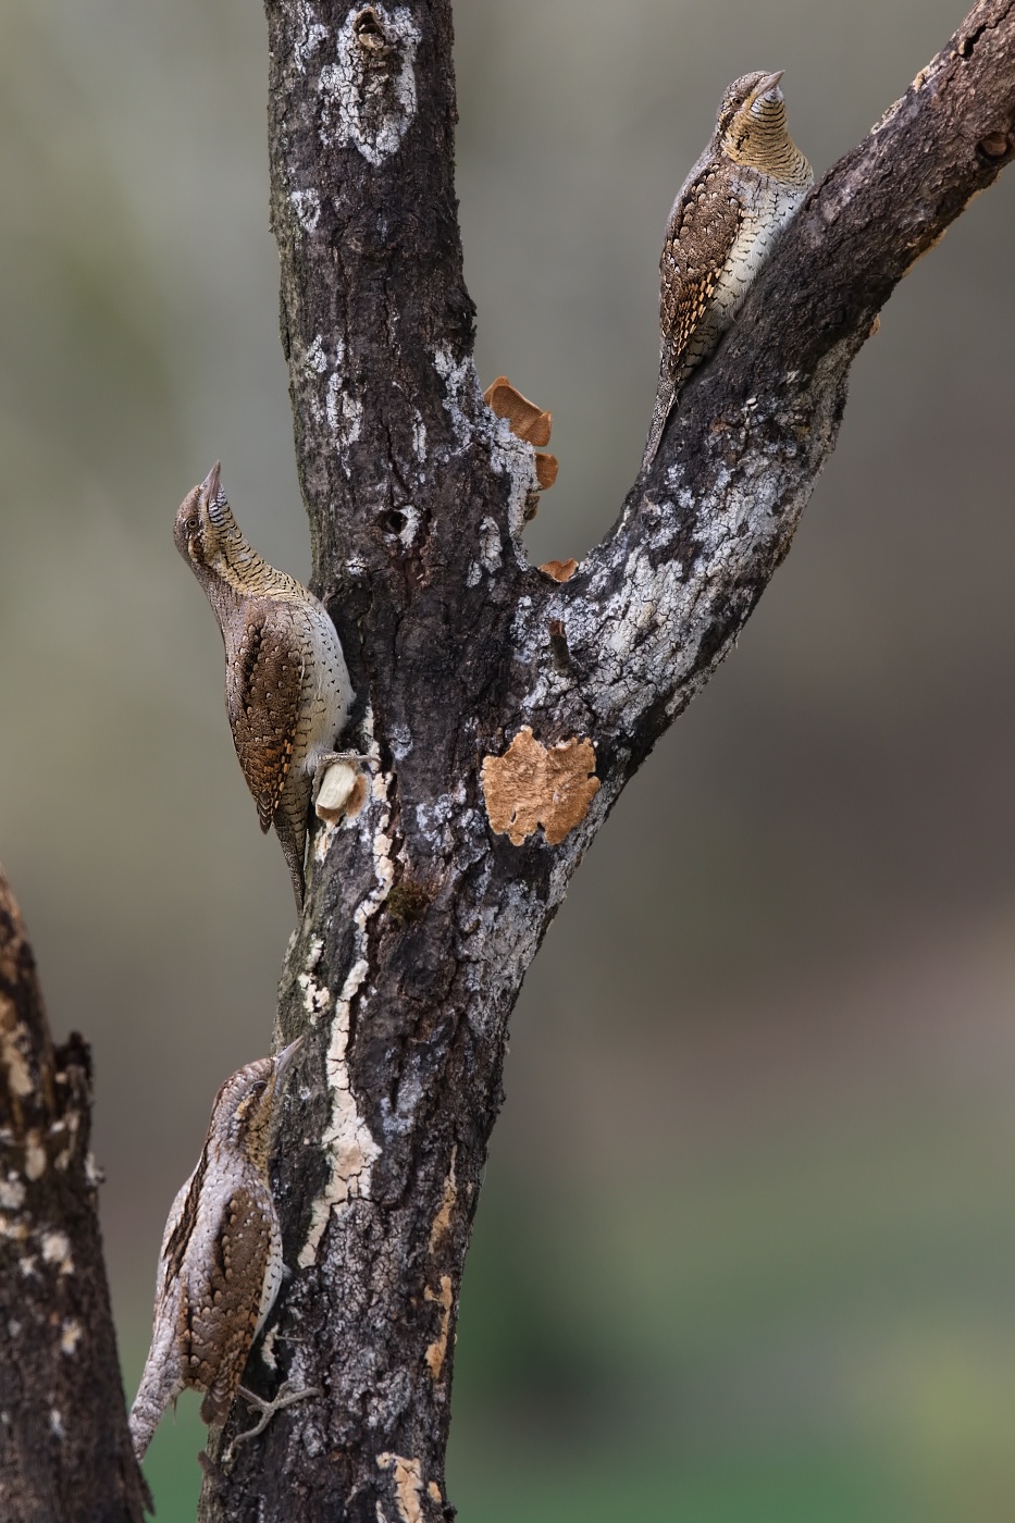
[[[223,1203],[215,1244],[200,1281],[186,1287],[181,1320],[187,1384],[204,1390],[201,1421],[224,1422],[253,1343],[271,1252],[270,1199],[238,1185]]]

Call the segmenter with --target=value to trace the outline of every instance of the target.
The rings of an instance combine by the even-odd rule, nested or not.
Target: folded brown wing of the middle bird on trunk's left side
[[[268,611],[251,614],[226,670],[226,707],[247,787],[268,830],[293,758],[303,688],[303,658]]]

